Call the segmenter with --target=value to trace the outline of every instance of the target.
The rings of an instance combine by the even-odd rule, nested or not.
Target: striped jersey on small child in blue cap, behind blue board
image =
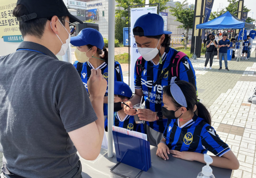
[[[134,116],[126,115],[124,120],[121,121],[118,112],[115,112],[114,125],[124,129],[129,129],[130,131],[145,133],[143,124],[136,124],[134,121]],[[105,120],[105,131],[108,131],[108,118]]]

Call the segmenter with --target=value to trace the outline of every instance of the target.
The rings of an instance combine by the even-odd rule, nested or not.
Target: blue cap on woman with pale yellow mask
[[[100,32],[96,29],[82,29],[77,36],[70,38],[70,43],[74,46],[93,45],[99,49],[103,49],[104,40]]]

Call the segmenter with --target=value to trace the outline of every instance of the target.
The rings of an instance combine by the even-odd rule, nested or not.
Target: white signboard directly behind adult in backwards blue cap
[[[135,43],[135,38],[134,38],[134,33],[132,31],[132,29],[134,28],[134,24],[136,22],[136,20],[142,16],[145,15],[147,13],[154,13],[157,14],[157,7],[139,7],[139,8],[132,8],[131,10],[131,48],[130,48],[130,87],[132,89],[132,91],[134,92],[134,67],[135,67],[135,62],[136,60],[139,58],[139,56],[141,56],[141,54],[139,54],[137,45]]]

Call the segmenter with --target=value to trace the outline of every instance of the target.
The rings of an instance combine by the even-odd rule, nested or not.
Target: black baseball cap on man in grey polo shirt
[[[52,16],[69,16],[69,22],[79,22],[81,20],[71,15],[64,4],[63,0],[18,0],[17,5],[22,4],[27,9],[29,14],[17,17],[19,22],[27,22],[36,18],[50,18]]]

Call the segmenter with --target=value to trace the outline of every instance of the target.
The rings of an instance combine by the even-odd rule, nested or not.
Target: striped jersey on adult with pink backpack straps
[[[171,68],[167,73],[165,73],[163,78],[160,80],[158,84],[156,84],[155,87],[152,87],[152,86],[153,86],[153,83],[158,79],[158,77],[164,71],[164,69],[171,64],[171,58],[174,54],[174,51],[176,50],[170,47],[165,48],[165,52],[161,56],[163,59],[162,64],[159,64],[159,63],[154,64],[152,60],[145,61],[144,71],[141,72],[141,76],[138,75],[139,69],[135,65],[135,69],[134,69],[135,89],[142,89],[144,94],[144,99],[145,99],[145,106],[147,109],[150,109],[151,111],[154,111],[154,112],[161,111],[161,108],[163,106],[162,89],[164,86],[170,85],[171,83],[171,78],[173,77]],[[196,88],[196,75],[189,58],[184,58],[180,62],[179,76],[177,78],[178,80],[185,80],[187,82],[190,82]],[[147,100],[148,95],[150,96],[150,100]],[[163,133],[166,123],[167,123],[167,119],[163,119],[163,122],[157,122],[157,121],[147,122],[147,124],[152,129],[161,133]]]

